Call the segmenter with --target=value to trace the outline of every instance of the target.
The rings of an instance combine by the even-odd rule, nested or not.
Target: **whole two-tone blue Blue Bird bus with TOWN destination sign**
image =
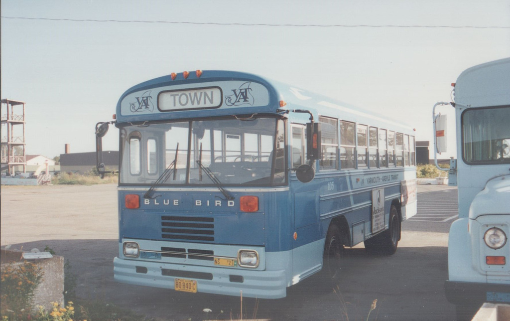
[[[122,94],[116,281],[257,298],[345,247],[391,255],[416,214],[410,127],[235,71],[172,73]]]

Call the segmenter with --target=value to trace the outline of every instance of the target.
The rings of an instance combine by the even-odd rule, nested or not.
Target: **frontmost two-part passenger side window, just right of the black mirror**
[[[321,124],[322,169],[338,168],[338,122],[336,119],[319,117]]]

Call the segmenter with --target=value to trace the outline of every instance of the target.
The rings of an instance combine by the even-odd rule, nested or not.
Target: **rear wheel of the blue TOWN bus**
[[[365,241],[365,249],[372,254],[392,255],[400,239],[400,219],[395,205],[390,208],[390,228]]]

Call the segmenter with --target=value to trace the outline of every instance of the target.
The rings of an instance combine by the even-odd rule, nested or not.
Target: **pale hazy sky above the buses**
[[[95,151],[95,124],[112,119],[126,89],[196,69],[289,83],[432,141],[432,107],[451,101],[460,73],[510,57],[510,0],[2,0],[1,9],[1,97],[26,103],[26,153],[49,158],[65,144]],[[455,156],[453,108],[439,111],[452,129],[441,158]],[[118,133],[103,149],[118,150]]]

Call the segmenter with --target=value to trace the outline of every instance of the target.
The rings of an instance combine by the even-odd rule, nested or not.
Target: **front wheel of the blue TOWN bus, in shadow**
[[[331,225],[327,231],[326,243],[324,244],[324,257],[322,275],[331,281],[338,280],[341,273],[344,245],[342,235],[336,225]]]

